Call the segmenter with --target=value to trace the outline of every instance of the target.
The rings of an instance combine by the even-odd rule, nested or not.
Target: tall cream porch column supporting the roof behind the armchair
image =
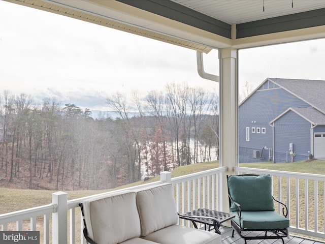
[[[226,174],[234,174],[238,156],[238,83],[237,83],[237,50],[221,49],[220,79],[220,165],[227,166],[228,172],[223,175],[222,209],[229,210]]]

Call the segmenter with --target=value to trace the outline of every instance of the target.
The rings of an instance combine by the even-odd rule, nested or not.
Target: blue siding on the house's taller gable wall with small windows
[[[268,157],[258,160],[253,159],[253,150],[262,151],[264,146],[272,148],[272,127],[269,125],[269,122],[292,106],[309,105],[286,92],[284,89],[273,86],[273,83],[269,81],[266,81],[254,94],[239,106],[238,136],[240,163],[269,160]],[[250,128],[249,141],[246,141],[246,127]],[[252,127],[261,128],[261,130],[262,128],[266,128],[266,133],[252,133]],[[310,138],[310,136],[308,138]],[[310,141],[310,139],[308,140]],[[266,156],[265,153],[263,153],[263,155]]]

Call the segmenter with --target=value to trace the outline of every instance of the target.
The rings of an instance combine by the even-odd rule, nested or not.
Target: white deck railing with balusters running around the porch
[[[171,178],[169,172],[163,172],[160,181],[128,188],[128,190],[154,186],[161,182],[172,182],[179,212],[200,207],[220,210],[222,209],[222,179],[225,177],[226,170],[226,167],[220,167],[176,178]],[[290,203],[287,204],[290,232],[325,239],[324,175],[242,167],[234,167],[234,170],[240,174],[272,175],[275,198]],[[82,235],[83,222],[78,204],[89,197],[68,201],[67,193],[53,193],[51,204],[0,215],[1,230],[37,230],[40,231],[41,243],[46,244],[86,243]],[[307,202],[308,204],[305,204]]]

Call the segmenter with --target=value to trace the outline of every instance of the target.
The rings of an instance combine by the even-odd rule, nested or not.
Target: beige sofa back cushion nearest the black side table
[[[172,184],[137,191],[141,235],[177,224],[178,216]]]

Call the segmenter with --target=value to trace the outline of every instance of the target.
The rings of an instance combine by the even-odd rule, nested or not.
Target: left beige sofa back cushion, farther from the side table
[[[83,202],[88,236],[98,244],[116,244],[140,236],[136,193],[123,191]]]

